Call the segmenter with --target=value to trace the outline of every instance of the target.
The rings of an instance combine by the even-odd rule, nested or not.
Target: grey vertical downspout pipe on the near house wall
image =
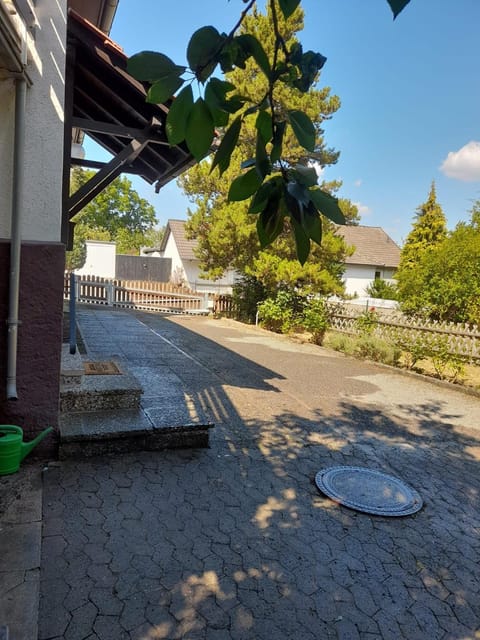
[[[15,80],[15,134],[13,150],[12,221],[10,232],[10,280],[7,320],[7,400],[17,400],[17,344],[20,298],[21,195],[24,185],[25,108],[27,82]]]

